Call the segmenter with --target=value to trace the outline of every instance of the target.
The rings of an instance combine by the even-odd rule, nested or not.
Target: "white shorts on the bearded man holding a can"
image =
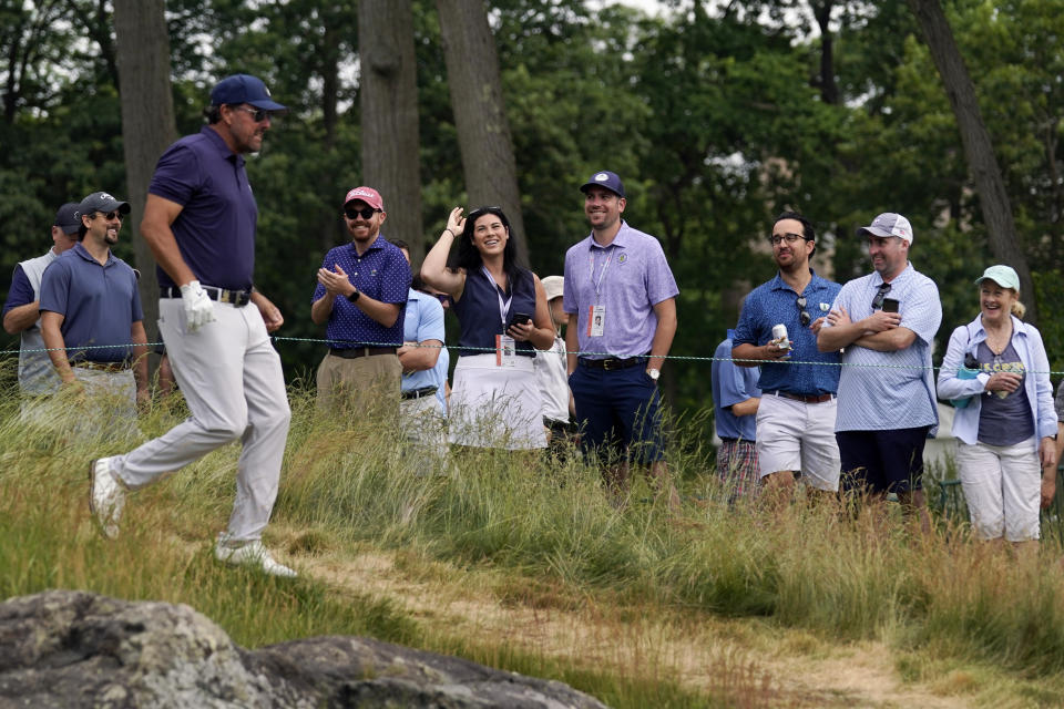
[[[838,399],[806,403],[765,394],[757,407],[757,459],[761,477],[784,470],[801,471],[817,490],[838,491],[839,444],[835,440]]]

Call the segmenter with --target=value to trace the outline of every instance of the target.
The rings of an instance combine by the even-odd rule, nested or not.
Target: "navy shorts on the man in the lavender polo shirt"
[[[623,454],[643,465],[665,458],[662,395],[645,364],[614,370],[580,364],[569,388],[585,453],[597,451],[603,459]]]

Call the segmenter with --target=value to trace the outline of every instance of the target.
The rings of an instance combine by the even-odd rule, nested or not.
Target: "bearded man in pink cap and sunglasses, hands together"
[[[380,193],[355,187],[341,208],[351,240],[325,255],[310,306],[310,319],[325,325],[329,341],[317,371],[317,405],[348,415],[369,409],[393,413],[410,265],[380,233],[388,218]]]

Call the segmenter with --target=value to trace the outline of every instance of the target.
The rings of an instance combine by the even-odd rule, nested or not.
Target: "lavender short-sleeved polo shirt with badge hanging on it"
[[[597,292],[596,292],[597,287]],[[657,316],[654,306],[679,294],[665,251],[649,234],[626,222],[610,246],[592,236],[565,254],[565,312],[579,314],[580,351],[590,359],[638,357],[651,351]],[[606,307],[602,337],[589,335],[593,305]]]

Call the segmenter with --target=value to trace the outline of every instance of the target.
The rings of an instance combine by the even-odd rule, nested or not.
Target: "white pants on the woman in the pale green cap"
[[[1034,438],[1015,445],[958,441],[956,469],[972,526],[981,540],[1039,538],[1042,463]]]

